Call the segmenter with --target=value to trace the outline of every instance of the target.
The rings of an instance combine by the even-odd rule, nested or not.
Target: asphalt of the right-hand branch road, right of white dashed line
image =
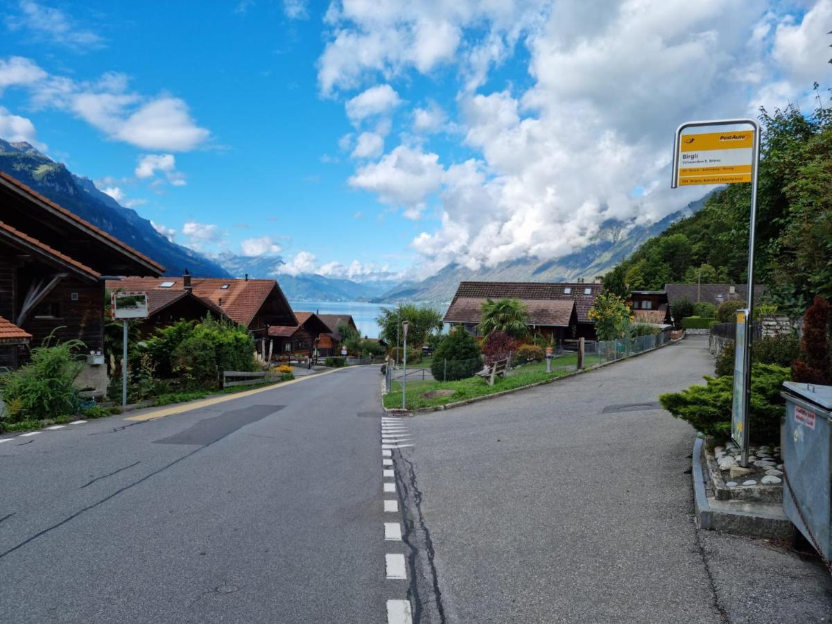
[[[423,622],[828,622],[816,560],[696,529],[695,433],[656,398],[712,370],[689,338],[408,418],[414,446],[394,455],[429,545]]]

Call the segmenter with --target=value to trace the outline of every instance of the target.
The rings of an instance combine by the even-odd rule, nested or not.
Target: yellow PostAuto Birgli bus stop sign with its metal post
[[[751,130],[683,134],[690,128],[751,126]],[[751,341],[754,337],[754,244],[757,225],[757,178],[760,171],[760,124],[753,119],[690,121],[676,128],[673,144],[673,181],[671,188],[700,184],[751,183],[751,210],[748,228],[747,310],[737,316],[734,408],[731,414],[731,437],[740,444],[740,463],[748,467],[748,414],[751,409]],[[741,359],[741,367],[740,367]],[[742,377],[741,384],[736,379]],[[738,439],[739,438],[739,439]]]

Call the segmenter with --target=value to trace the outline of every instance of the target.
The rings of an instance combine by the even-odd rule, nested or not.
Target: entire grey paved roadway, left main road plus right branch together
[[[399,419],[345,369],[11,438],[0,622],[825,622],[816,562],[691,522],[655,401],[710,369],[688,339]]]

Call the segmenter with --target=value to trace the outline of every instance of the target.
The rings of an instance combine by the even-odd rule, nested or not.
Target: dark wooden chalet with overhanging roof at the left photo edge
[[[28,334],[32,345],[52,335],[61,341],[80,339],[84,351],[100,354],[106,276],[161,275],[164,270],[0,171],[0,317]],[[22,343],[5,343],[0,366],[22,363],[27,353]],[[79,384],[104,391],[106,367],[88,367]]]

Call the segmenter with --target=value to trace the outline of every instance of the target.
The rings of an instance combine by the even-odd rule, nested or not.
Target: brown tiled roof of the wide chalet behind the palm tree
[[[602,284],[590,283],[568,283],[568,282],[460,282],[456,295],[453,295],[448,312],[454,309],[454,304],[458,299],[519,299],[526,305],[530,302],[540,301],[572,301],[575,305],[578,323],[592,323],[587,313],[592,304],[595,303],[597,295],[601,294],[604,286]],[[566,289],[572,289],[572,292],[565,292]],[[585,295],[585,291],[589,290],[589,294]],[[537,304],[535,304],[537,305]],[[539,305],[538,305],[539,307]],[[529,306],[531,312],[532,306]],[[551,314],[562,314],[564,309],[559,309],[557,312],[552,308]],[[479,319],[479,315],[477,315]],[[448,313],[445,314],[447,322],[461,322],[448,319]],[[477,323],[478,320],[465,321],[466,323]],[[530,323],[534,323],[530,320]],[[545,324],[545,323],[537,323]]]

